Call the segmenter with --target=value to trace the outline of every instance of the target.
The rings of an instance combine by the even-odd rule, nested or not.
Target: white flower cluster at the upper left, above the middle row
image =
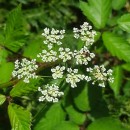
[[[51,49],[53,47],[53,44],[61,45],[62,42],[61,39],[64,38],[65,30],[57,30],[52,28],[50,30],[49,28],[45,28],[42,35],[45,37],[44,44],[48,45],[48,48]]]

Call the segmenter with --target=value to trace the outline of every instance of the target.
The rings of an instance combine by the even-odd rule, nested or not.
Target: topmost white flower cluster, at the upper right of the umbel
[[[96,31],[92,30],[92,26],[90,26],[87,22],[84,22],[84,24],[80,27],[81,29],[73,28],[74,37],[76,39],[80,38],[83,42],[85,42],[85,46],[92,45]]]

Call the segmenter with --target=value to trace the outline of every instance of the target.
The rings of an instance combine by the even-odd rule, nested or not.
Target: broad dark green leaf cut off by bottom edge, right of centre
[[[103,117],[91,123],[87,130],[127,130],[120,121],[112,117]]]

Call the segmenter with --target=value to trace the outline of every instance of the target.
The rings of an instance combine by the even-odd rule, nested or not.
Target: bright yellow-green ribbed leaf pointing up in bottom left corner
[[[8,115],[12,130],[31,130],[31,114],[23,107],[14,103],[9,104]]]

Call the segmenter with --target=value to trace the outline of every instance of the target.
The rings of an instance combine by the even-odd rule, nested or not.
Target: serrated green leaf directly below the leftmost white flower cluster
[[[32,92],[37,91],[39,79],[31,79],[29,83],[24,83],[22,80],[13,86],[10,91],[12,97],[21,97],[23,95],[28,95]]]

